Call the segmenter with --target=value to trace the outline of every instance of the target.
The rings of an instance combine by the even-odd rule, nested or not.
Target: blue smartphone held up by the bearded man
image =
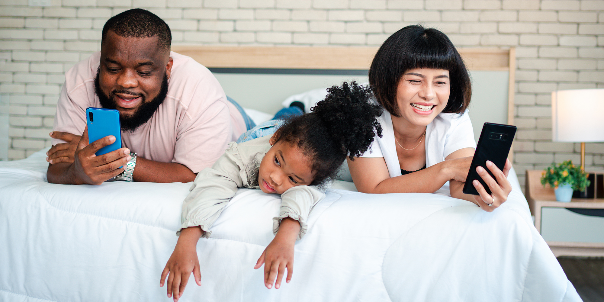
[[[88,143],[100,140],[108,135],[115,137],[115,142],[99,149],[95,155],[103,155],[121,148],[120,112],[115,109],[86,108],[88,121]]]

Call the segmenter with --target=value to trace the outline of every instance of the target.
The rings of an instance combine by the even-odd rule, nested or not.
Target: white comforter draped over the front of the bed
[[[45,181],[45,150],[0,162],[0,301],[171,301],[159,275],[189,184]],[[532,225],[518,180],[493,213],[439,194],[330,190],[294,277],[253,266],[280,199],[241,189],[198,243],[181,301],[580,301]]]

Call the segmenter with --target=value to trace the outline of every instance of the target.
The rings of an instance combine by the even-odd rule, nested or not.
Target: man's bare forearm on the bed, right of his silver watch
[[[134,181],[144,182],[191,182],[195,180],[187,166],[176,162],[159,162],[146,158],[137,158],[137,165],[132,173]]]

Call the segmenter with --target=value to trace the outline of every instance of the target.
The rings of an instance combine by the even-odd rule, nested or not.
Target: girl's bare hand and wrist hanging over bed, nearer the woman
[[[281,287],[281,279],[285,273],[285,268],[288,269],[288,277],[285,281],[289,283],[292,280],[292,274],[294,273],[294,244],[298,233],[300,233],[300,223],[298,223],[298,220],[290,217],[282,219],[275,238],[266,246],[262,255],[260,255],[254,269],[260,268],[265,263],[266,288],[272,288],[275,277],[277,277],[275,289]]]

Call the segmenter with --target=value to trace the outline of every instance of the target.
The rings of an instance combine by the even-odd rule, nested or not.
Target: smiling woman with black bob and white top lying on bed
[[[466,66],[451,40],[434,28],[410,25],[382,44],[371,63],[369,82],[384,113],[379,118],[383,137],[371,153],[348,160],[356,188],[364,193],[434,193],[446,182],[454,198],[493,211],[506,201],[512,185],[492,162],[478,174],[489,185],[487,194],[474,181],[480,196],[463,194],[474,155],[474,133],[467,115],[472,95]]]

